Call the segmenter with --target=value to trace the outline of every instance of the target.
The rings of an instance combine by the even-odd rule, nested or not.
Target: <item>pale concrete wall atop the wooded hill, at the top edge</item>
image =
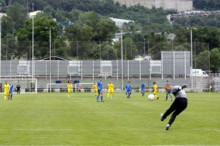
[[[177,11],[186,11],[193,9],[192,0],[115,0],[122,5],[134,6],[142,5],[147,8],[164,8],[164,9],[175,9]]]

